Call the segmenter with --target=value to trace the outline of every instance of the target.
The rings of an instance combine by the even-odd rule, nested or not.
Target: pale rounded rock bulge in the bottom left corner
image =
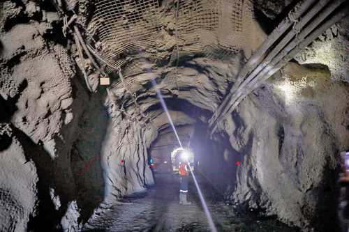
[[[0,156],[0,231],[26,231],[29,217],[36,215],[38,175],[33,160],[26,156],[20,139],[9,124],[0,124],[9,146]],[[17,181],[21,180],[21,181]]]

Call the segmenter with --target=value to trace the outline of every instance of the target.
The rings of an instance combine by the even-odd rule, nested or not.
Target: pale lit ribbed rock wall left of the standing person
[[[147,166],[147,148],[156,131],[145,130],[137,122],[123,121],[121,113],[116,113],[119,116],[111,119],[102,150],[106,199],[110,202],[154,184]]]

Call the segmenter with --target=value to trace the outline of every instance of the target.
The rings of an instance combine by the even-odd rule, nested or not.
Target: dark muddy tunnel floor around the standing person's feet
[[[197,179],[218,231],[298,231],[276,219],[232,209],[204,176],[197,174]],[[160,174],[154,187],[100,210],[82,231],[209,231],[193,182],[189,185],[188,201],[191,205],[179,205],[177,176]]]

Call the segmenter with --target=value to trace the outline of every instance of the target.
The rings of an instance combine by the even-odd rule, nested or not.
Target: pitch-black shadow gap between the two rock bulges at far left
[[[18,87],[17,93],[21,93],[27,86],[28,82],[24,79]],[[36,209],[37,214],[35,217],[31,215],[31,218],[29,218],[28,230],[40,231],[45,228],[47,231],[59,231],[59,221],[66,212],[66,207],[64,207],[66,204],[61,202],[62,207],[56,210],[51,200],[50,187],[54,185],[52,175],[54,164],[50,154],[42,146],[35,144],[22,130],[9,123],[15,111],[17,111],[16,103],[19,98],[20,94],[16,94],[12,98],[8,96],[7,99],[0,95],[0,123],[8,124],[8,129],[10,130],[8,133],[1,132],[0,152],[6,150],[12,144],[13,139],[16,138],[23,147],[27,162],[34,162],[37,169],[38,208]]]

